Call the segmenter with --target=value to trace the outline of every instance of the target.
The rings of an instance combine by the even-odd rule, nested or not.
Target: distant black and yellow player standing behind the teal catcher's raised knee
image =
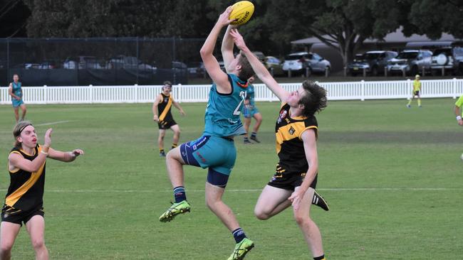
[[[172,138],[172,148],[177,147],[180,139],[180,127],[172,117],[172,105],[179,109],[180,114],[185,115],[180,104],[175,102],[172,97],[172,83],[169,81],[164,82],[162,92],[157,95],[155,102],[152,104],[153,120],[157,121],[159,126],[159,137],[157,138],[157,144],[159,145],[160,156],[165,157],[164,151],[164,136],[167,129],[174,131],[174,137]]]

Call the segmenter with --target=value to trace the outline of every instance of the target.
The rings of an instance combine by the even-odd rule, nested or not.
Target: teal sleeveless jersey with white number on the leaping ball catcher
[[[247,82],[240,80],[236,75],[229,74],[232,91],[229,94],[217,92],[217,85],[212,84],[209,90],[209,102],[207,102],[204,115],[204,136],[237,136],[245,134],[239,114],[243,109],[246,99]]]

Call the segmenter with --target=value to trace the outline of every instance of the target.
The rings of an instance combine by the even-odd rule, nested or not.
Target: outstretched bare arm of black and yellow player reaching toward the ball
[[[248,58],[249,63],[251,64],[252,69],[254,72],[256,72],[257,77],[262,80],[262,82],[265,83],[267,87],[271,90],[271,92],[274,92],[276,94],[276,97],[278,97],[281,102],[284,102],[286,98],[288,97],[289,93],[286,90],[283,90],[283,87],[281,87],[278,82],[270,75],[269,70],[260,62],[260,60],[254,55],[251,50],[246,46],[246,43],[244,43],[243,36],[239,34],[237,29],[232,29],[230,31],[231,37],[233,37],[234,43],[236,47],[238,47],[241,50],[241,53],[246,55],[246,58]]]

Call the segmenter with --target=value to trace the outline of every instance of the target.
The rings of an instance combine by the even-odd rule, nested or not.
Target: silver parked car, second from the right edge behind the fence
[[[387,72],[400,73],[405,71],[407,75],[417,75],[423,71],[429,71],[431,67],[430,50],[402,50],[397,57],[387,63]]]

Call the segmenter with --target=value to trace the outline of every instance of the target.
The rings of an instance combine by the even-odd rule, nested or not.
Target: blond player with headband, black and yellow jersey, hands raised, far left
[[[56,151],[51,148],[51,132],[45,134],[43,146],[38,145],[36,130],[28,121],[14,126],[15,146],[8,156],[10,185],[1,210],[0,259],[10,259],[11,248],[21,229],[26,224],[31,237],[36,259],[48,259],[45,247],[43,219],[43,188],[45,185],[46,158],[71,162],[83,151]]]

